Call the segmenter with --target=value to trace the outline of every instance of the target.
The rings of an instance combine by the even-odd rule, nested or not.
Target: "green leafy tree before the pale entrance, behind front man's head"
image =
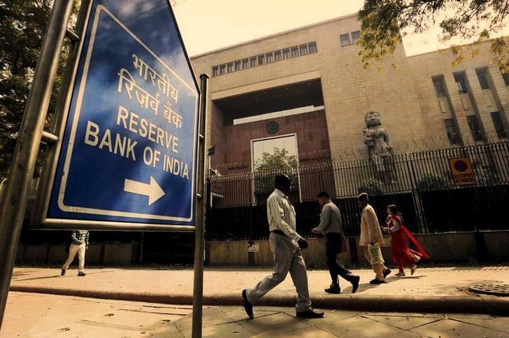
[[[270,194],[274,190],[274,178],[287,174],[292,180],[291,190],[298,189],[297,157],[289,156],[285,148],[274,148],[274,153],[263,153],[254,163],[254,193]]]

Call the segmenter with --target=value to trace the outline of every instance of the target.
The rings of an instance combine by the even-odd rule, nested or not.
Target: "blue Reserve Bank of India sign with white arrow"
[[[48,218],[194,225],[198,93],[168,1],[94,1]]]

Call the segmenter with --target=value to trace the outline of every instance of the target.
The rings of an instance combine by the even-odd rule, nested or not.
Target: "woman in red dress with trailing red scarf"
[[[382,230],[391,234],[391,249],[392,249],[392,260],[394,264],[398,264],[399,272],[396,276],[405,276],[405,270],[403,264],[410,267],[411,274],[414,274],[417,269],[417,262],[421,258],[429,258],[424,250],[422,250],[419,242],[415,239],[408,229],[403,225],[403,218],[401,213],[398,211],[398,207],[394,204],[387,206],[387,227],[382,227]],[[413,242],[418,251],[413,251],[406,245],[405,234],[408,239]]]

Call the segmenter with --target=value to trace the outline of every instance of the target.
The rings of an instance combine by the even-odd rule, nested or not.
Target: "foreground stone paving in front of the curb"
[[[325,311],[295,318],[291,307],[204,307],[203,337],[508,337],[509,317]],[[191,337],[191,307],[10,293],[0,337]]]

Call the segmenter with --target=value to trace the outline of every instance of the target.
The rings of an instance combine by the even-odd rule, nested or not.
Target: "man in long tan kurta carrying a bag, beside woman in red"
[[[359,246],[364,246],[366,260],[368,260],[373,267],[373,272],[375,272],[375,279],[369,283],[382,284],[385,283],[385,277],[391,273],[391,270],[387,269],[384,265],[384,258],[380,249],[383,239],[382,230],[380,230],[380,223],[378,223],[375,209],[368,202],[368,194],[366,192],[361,193],[357,197],[357,204],[362,209]]]

